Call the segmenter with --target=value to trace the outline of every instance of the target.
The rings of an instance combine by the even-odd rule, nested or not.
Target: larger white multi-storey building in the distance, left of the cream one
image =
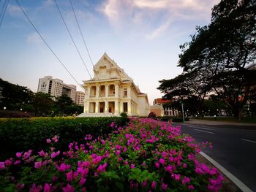
[[[62,80],[45,76],[39,79],[37,92],[49,93],[50,96],[69,96],[75,102],[76,86],[65,84]]]

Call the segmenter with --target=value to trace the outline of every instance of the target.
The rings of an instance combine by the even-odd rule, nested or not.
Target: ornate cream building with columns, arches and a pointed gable
[[[106,53],[94,66],[94,77],[83,81],[86,91],[83,116],[147,116],[148,96]]]

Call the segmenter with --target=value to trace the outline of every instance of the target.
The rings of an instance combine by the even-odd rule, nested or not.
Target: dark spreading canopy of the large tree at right
[[[191,41],[181,45],[178,66],[182,74],[159,81],[165,98],[215,94],[239,117],[255,95],[256,71],[246,67],[256,60],[256,3],[222,0],[208,26],[197,26]]]

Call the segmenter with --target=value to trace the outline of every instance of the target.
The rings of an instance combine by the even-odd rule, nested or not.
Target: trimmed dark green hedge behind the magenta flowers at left
[[[129,123],[128,118],[2,118],[0,160],[18,151],[44,149],[45,139],[54,135],[61,138],[57,147],[62,150],[67,149],[69,142],[82,142],[86,134],[107,137],[115,129],[110,126],[113,121],[118,127]]]

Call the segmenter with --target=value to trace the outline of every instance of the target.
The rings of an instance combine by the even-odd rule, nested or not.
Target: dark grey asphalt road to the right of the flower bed
[[[181,131],[197,142],[212,142],[203,152],[256,191],[256,126],[182,123]]]

